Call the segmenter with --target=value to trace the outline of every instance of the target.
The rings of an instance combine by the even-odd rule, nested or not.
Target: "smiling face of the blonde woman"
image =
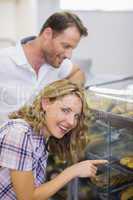
[[[82,112],[81,99],[75,94],[66,95],[53,102],[43,99],[42,107],[46,112],[45,128],[49,135],[58,139],[77,126]]]

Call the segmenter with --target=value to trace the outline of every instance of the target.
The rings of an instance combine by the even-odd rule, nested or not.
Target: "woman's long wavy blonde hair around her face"
[[[83,88],[80,88],[66,79],[56,81],[46,86],[31,105],[25,105],[17,112],[11,113],[9,118],[24,119],[37,134],[40,134],[40,130],[45,126],[45,112],[42,109],[42,99],[49,98],[49,100],[54,101],[68,94],[75,94],[81,99],[81,118],[79,119],[76,128],[71,130],[70,133],[66,134],[62,139],[50,137],[48,140],[48,149],[50,152],[56,153],[62,160],[76,162],[81,159],[86,146],[88,119],[90,114]]]

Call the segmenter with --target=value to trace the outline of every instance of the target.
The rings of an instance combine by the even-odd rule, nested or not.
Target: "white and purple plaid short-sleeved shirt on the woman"
[[[10,170],[32,171],[35,186],[45,181],[48,153],[43,135],[36,135],[22,119],[0,128],[0,199],[16,200]]]

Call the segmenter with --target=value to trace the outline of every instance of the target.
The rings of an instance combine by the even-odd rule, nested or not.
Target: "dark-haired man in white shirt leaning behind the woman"
[[[0,52],[0,123],[53,81],[84,83],[83,73],[70,61],[82,36],[87,36],[87,29],[78,16],[58,12],[37,37]]]

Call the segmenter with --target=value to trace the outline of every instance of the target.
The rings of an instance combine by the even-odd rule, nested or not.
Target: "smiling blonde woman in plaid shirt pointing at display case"
[[[12,113],[0,128],[0,199],[46,200],[75,177],[94,177],[107,161],[78,162],[45,183],[47,148],[61,159],[80,158],[86,114],[84,92],[67,80],[45,87],[30,106]]]

